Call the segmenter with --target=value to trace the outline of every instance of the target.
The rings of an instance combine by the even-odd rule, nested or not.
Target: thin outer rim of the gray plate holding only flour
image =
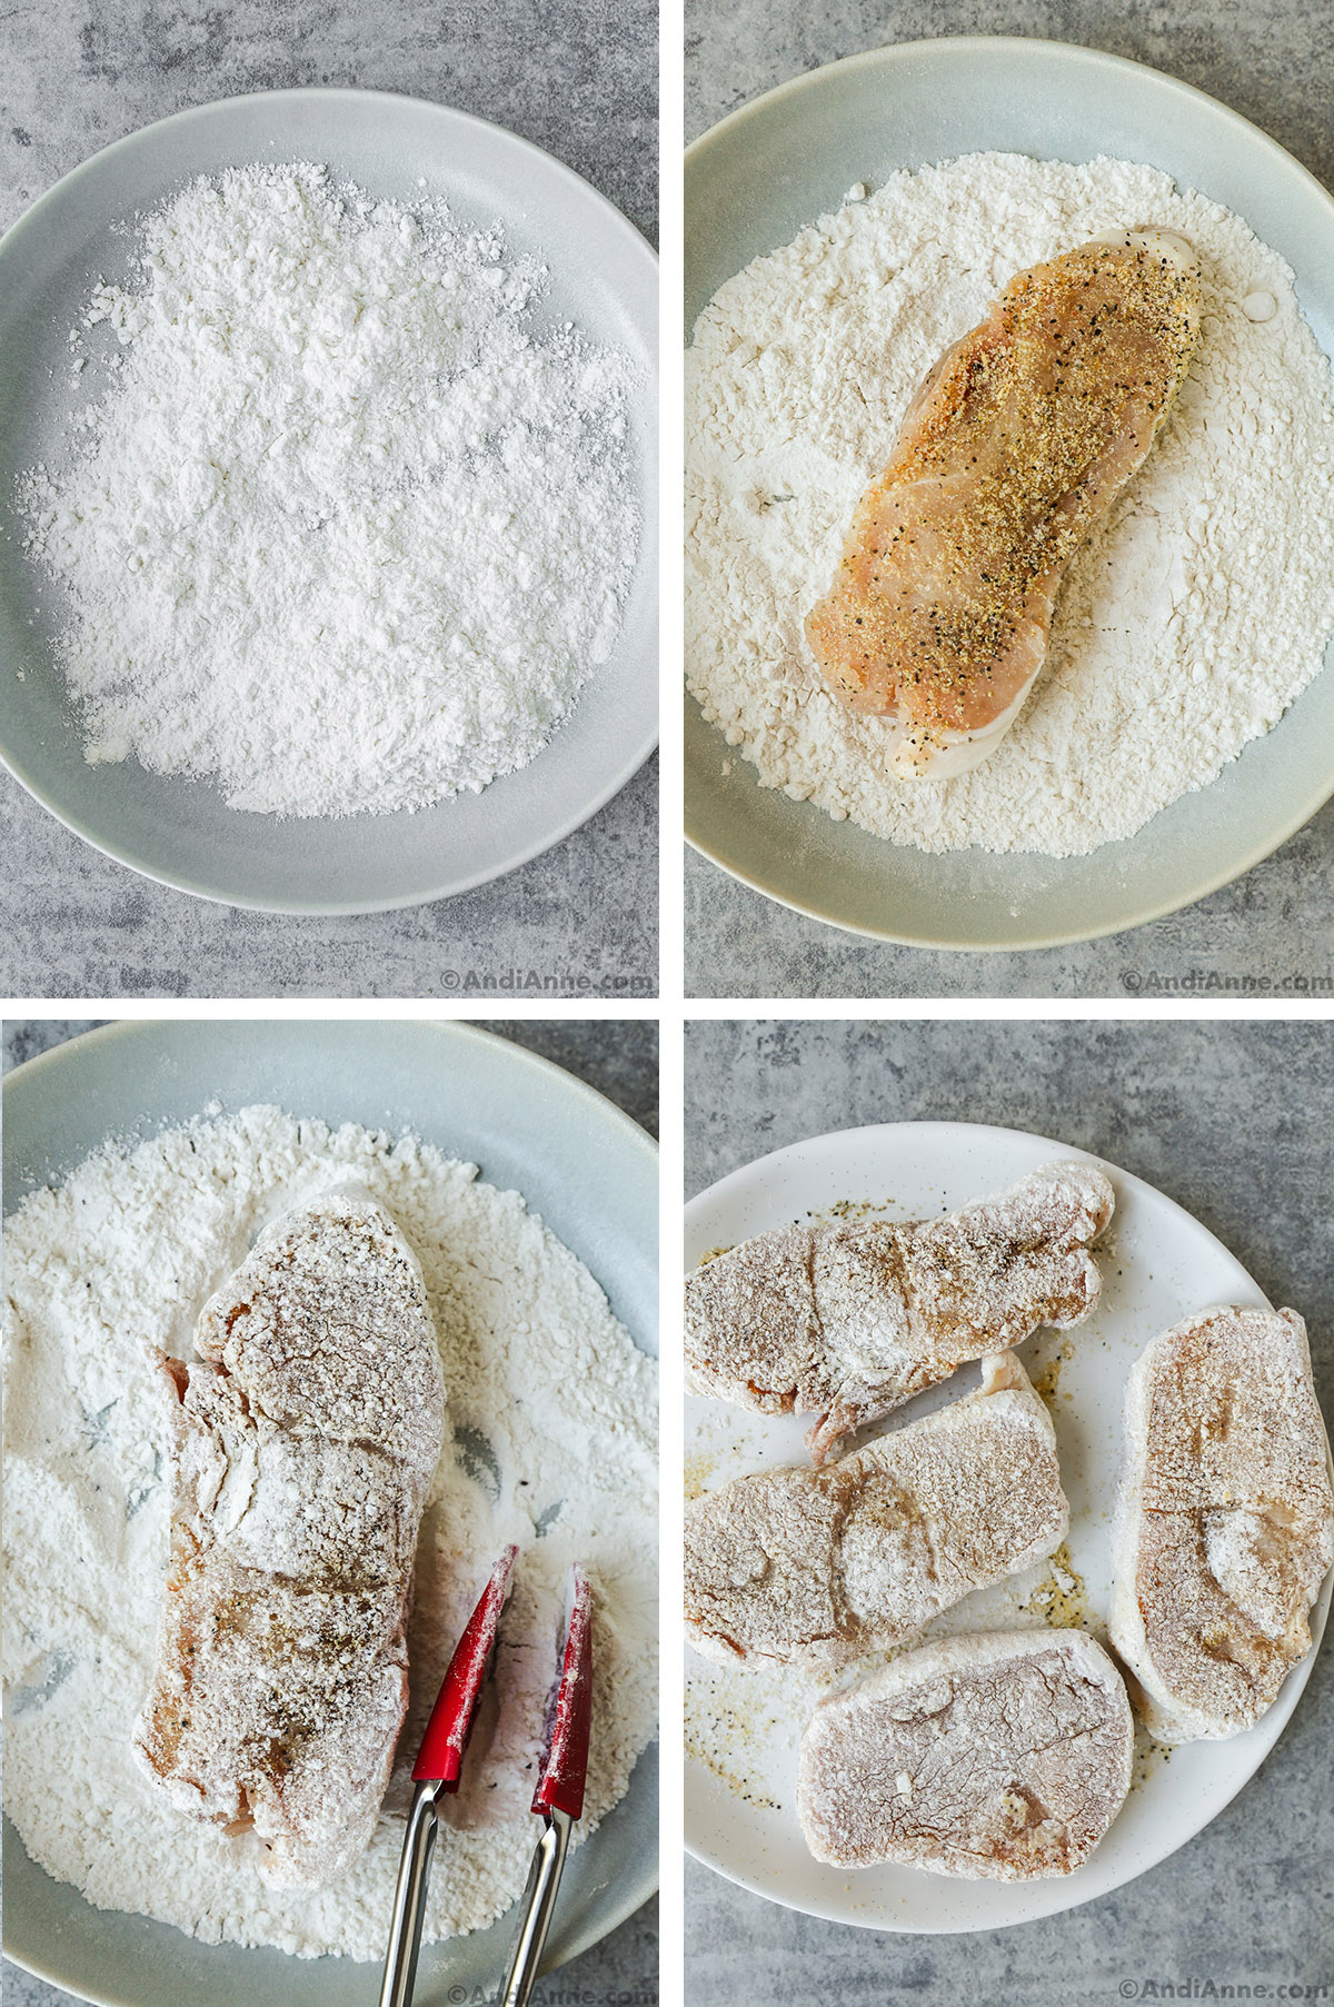
[[[4,233],[0,233],[0,281],[4,277],[6,257],[16,255],[14,243],[18,241],[22,251],[22,239],[30,231],[34,231],[36,235],[42,233],[46,215],[50,213],[48,205],[54,207],[58,197],[68,199],[78,183],[82,183],[86,177],[94,177],[106,165],[108,157],[136,149],[148,134],[156,134],[164,126],[181,128],[191,122],[199,122],[205,116],[235,110],[239,106],[255,106],[259,102],[269,102],[277,108],[281,104],[293,104],[297,100],[313,104],[319,100],[345,102],[349,98],[357,98],[359,102],[365,104],[381,104],[385,112],[391,112],[395,106],[411,106],[413,110],[431,110],[449,120],[459,120],[463,126],[481,128],[491,138],[499,136],[506,145],[514,147],[520,153],[520,157],[528,157],[530,161],[540,161],[542,171],[544,173],[554,171],[556,179],[566,185],[568,195],[576,203],[584,205],[592,203],[602,211],[604,223],[608,223],[612,233],[620,237],[624,253],[632,261],[640,261],[644,275],[650,279],[650,289],[654,293],[658,291],[660,259],[648,237],[638,229],[638,225],[630,221],[630,217],[622,209],[616,207],[616,203],[608,195],[602,193],[602,189],[596,189],[592,181],[586,181],[584,175],[568,167],[566,161],[562,161],[558,155],[548,153],[544,147],[538,147],[536,140],[524,138],[522,132],[514,132],[510,126],[502,124],[495,118],[483,118],[479,112],[459,110],[457,106],[441,104],[435,98],[417,98],[407,90],[363,90],[357,84],[293,84],[287,88],[273,88],[273,90],[239,90],[231,92],[225,98],[209,98],[203,104],[187,104],[181,110],[166,112],[162,118],[150,118],[146,124],[134,126],[132,132],[122,132],[118,138],[108,140],[106,147],[98,147],[96,153],[90,153],[84,161],[78,161],[72,169],[68,169],[68,173],[60,175],[60,179],[54,181],[48,189],[42,189],[36,201],[32,201],[10,223],[10,227]],[[650,333],[654,335],[652,345],[656,347],[658,329],[650,329]],[[660,592],[656,550],[650,554],[650,562],[652,562],[652,596],[656,602]],[[640,666],[644,674],[654,678],[658,676],[658,654],[654,648],[646,652],[644,662]],[[576,706],[578,706],[578,696],[572,710]],[[570,712],[566,712],[566,716],[570,716]],[[548,745],[542,749],[542,753],[546,753],[548,747],[558,737],[560,737],[560,727],[556,729]],[[173,875],[169,871],[154,867],[144,857],[138,857],[132,843],[116,843],[112,837],[94,835],[86,827],[86,819],[76,809],[60,807],[60,803],[52,797],[50,789],[40,787],[24,771],[22,757],[16,755],[8,745],[4,745],[2,735],[0,735],[0,765],[12,775],[14,781],[18,781],[24,793],[32,801],[36,801],[42,809],[46,809],[48,815],[54,815],[54,819],[62,823],[64,829],[76,835],[90,849],[98,851],[102,857],[110,857],[112,863],[124,865],[128,871],[134,871],[138,877],[150,879],[154,885],[166,885],[173,891],[183,891],[193,899],[207,899],[213,905],[229,905],[235,907],[237,911],[249,911],[249,913],[349,917],[355,913],[393,913],[413,905],[431,905],[437,899],[453,899],[459,893],[473,891],[477,885],[489,885],[493,879],[506,877],[508,873],[518,871],[522,865],[532,863],[534,857],[542,857],[558,843],[564,843],[566,837],[574,835],[576,829],[582,829],[584,823],[592,821],[592,817],[598,815],[598,811],[608,805],[608,801],[620,795],[634,779],[634,775],[640,771],[640,767],[644,767],[646,761],[652,757],[654,749],[658,747],[658,737],[660,737],[658,719],[652,719],[648,727],[638,735],[634,745],[630,745],[628,751],[622,755],[614,773],[604,775],[604,779],[598,783],[598,789],[588,797],[588,803],[584,807],[572,809],[558,823],[552,823],[548,833],[544,833],[542,837],[532,837],[526,843],[520,843],[514,851],[508,851],[506,857],[499,861],[479,865],[473,871],[457,873],[427,891],[393,893],[373,901],[307,899],[299,905],[287,903],[279,895],[239,897],[237,893],[229,893],[217,885],[193,883],[187,879],[185,873]],[[536,759],[542,759],[542,753],[538,753]],[[530,761],[530,767],[532,765],[534,761]],[[327,821],[337,821],[337,817],[311,817],[311,821],[327,823]]]

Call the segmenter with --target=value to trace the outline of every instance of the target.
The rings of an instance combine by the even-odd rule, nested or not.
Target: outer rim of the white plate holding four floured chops
[[[951,1140],[951,1138],[961,1138],[961,1136],[985,1136],[985,1138],[1015,1138],[1017,1136],[1017,1138],[1023,1138],[1029,1144],[1039,1144],[1041,1148],[1057,1150],[1057,1152],[1061,1152],[1065,1156],[1097,1164],[1097,1166],[1101,1166],[1111,1176],[1111,1180],[1115,1184],[1123,1184],[1123,1186],[1135,1188],[1139,1194],[1149,1194],[1151,1200],[1155,1204],[1165,1206],[1170,1210],[1170,1214],[1180,1214],[1180,1218],[1190,1226],[1192,1232],[1204,1234],[1208,1242],[1212,1242],[1218,1250],[1222,1250],[1222,1254],[1228,1258],[1228,1262],[1234,1268],[1238,1268],[1248,1278],[1248,1282],[1256,1291],[1258,1299],[1268,1305],[1266,1293],[1260,1288],[1260,1284],[1250,1274],[1250,1270],[1240,1260],[1240,1256],[1236,1256],[1232,1252],[1232,1248],[1224,1240],[1220,1240],[1218,1234],[1210,1226],[1204,1224],[1204,1220],[1196,1218],[1196,1214],[1190,1212],[1180,1200],[1172,1198],[1170,1192],[1163,1192],[1159,1186],[1151,1184],[1147,1178],[1141,1178],[1133,1170],[1123,1170],[1119,1164],[1113,1164],[1111,1158],[1099,1156],[1095,1150],[1085,1150],[1079,1144],[1065,1144],[1065,1142],[1059,1142],[1053,1136],[1039,1134],[1037,1130],[1023,1130],[1023,1128],[1015,1128],[1013,1124],[1005,1124],[1005,1122],[961,1122],[961,1120],[953,1120],[953,1118],[941,1118],[941,1120],[937,1120],[937,1118],[925,1118],[921,1122],[865,1122],[865,1124],[855,1122],[855,1124],[849,1124],[847,1128],[824,1130],[818,1136],[798,1138],[796,1142],[782,1144],[778,1150],[768,1150],[762,1156],[752,1158],[748,1164],[738,1164],[734,1170],[724,1172],[722,1178],[714,1178],[712,1184],[708,1184],[700,1192],[696,1192],[686,1202],[684,1222],[682,1222],[682,1234],[688,1240],[692,1226],[698,1224],[698,1218],[710,1206],[714,1206],[714,1204],[718,1204],[718,1202],[734,1196],[734,1192],[748,1178],[752,1178],[756,1172],[776,1170],[778,1176],[782,1176],[782,1170],[788,1168],[794,1162],[794,1158],[802,1150],[806,1150],[810,1146],[820,1148],[820,1146],[826,1146],[826,1144],[830,1144],[835,1140],[843,1142],[845,1138],[853,1138],[853,1136],[859,1138],[859,1140],[879,1138],[879,1140],[883,1140],[889,1146],[891,1138],[901,1136],[903,1130],[915,1130],[915,1132],[933,1130],[941,1140]],[[686,1274],[690,1274],[690,1272],[692,1272],[692,1268],[686,1266]],[[1272,1305],[1270,1305],[1270,1309],[1272,1309]],[[1326,1463],[1330,1463],[1328,1429],[1326,1429]],[[1332,1475],[1334,1475],[1334,1463],[1330,1463],[1330,1469],[1332,1469]],[[1282,1684],[1276,1700],[1270,1704],[1270,1708],[1266,1710],[1266,1714],[1260,1718],[1264,1722],[1268,1716],[1274,1714],[1276,1708],[1280,1708],[1280,1706],[1284,1708],[1284,1716],[1282,1716],[1282,1720],[1278,1724],[1278,1730],[1276,1730],[1274,1738],[1268,1742],[1268,1746],[1262,1750],[1262,1754],[1260,1754],[1258,1762],[1254,1764],[1254,1768],[1248,1770],[1238,1780],[1238,1784],[1232,1790],[1228,1790],[1228,1796],[1222,1800],[1222,1804],[1216,1806],[1216,1810],[1204,1820],[1204,1824],[1196,1826],[1194,1832],[1190,1832],[1182,1840],[1178,1840],[1178,1844],[1172,1846],[1165,1854],[1161,1854],[1159,1858],[1153,1858],[1153,1860],[1145,1860],[1143,1867],[1137,1867],[1131,1875],[1123,1877],[1121,1881],[1113,1883],[1111,1887],[1105,1887],[1105,1889],[1087,1889],[1087,1891],[1073,1891],[1073,1901],[1063,1903],[1059,1909],[1041,1911],[1041,1915],[1037,1915],[1037,1917],[1023,1915],[1023,1917],[1005,1917],[1001,1921],[989,1919],[987,1923],[977,1923],[977,1925],[967,1925],[965,1923],[965,1925],[945,1925],[945,1927],[931,1927],[931,1929],[915,1929],[913,1925],[905,1925],[901,1921],[889,1921],[885,1917],[849,1917],[849,1915],[830,1915],[826,1909],[802,1909],[802,1905],[796,1903],[796,1901],[792,1901],[788,1895],[778,1895],[774,1889],[764,1889],[764,1887],[758,1885],[758,1881],[752,1881],[746,1875],[740,1875],[740,1873],[736,1873],[736,1871],[732,1871],[728,1867],[722,1867],[716,1858],[712,1858],[710,1854],[702,1852],[698,1848],[698,1844],[692,1844],[690,1838],[684,1838],[684,1850],[686,1850],[686,1854],[692,1860],[698,1860],[702,1867],[710,1869],[714,1875],[720,1875],[724,1881],[732,1883],[738,1889],[744,1889],[748,1895],[754,1895],[754,1897],[758,1897],[764,1903],[776,1903],[780,1909],[790,1909],[796,1915],[818,1917],[820,1921],[839,1923],[839,1925],[845,1925],[849,1929],[881,1931],[881,1933],[895,1935],[895,1937],[969,1937],[975,1931],[1009,1931],[1009,1929],[1019,1929],[1019,1927],[1023,1927],[1027,1923],[1055,1921],[1059,1917],[1069,1915],[1069,1911],[1073,1911],[1073,1909],[1085,1907],[1087,1903],[1095,1903],[1095,1901],[1101,1901],[1103,1897],[1117,1895],[1117,1891],[1127,1889],[1127,1887],[1131,1887],[1131,1883],[1139,1881],[1141,1875],[1151,1875],[1155,1869],[1163,1867],[1163,1862],[1172,1860],[1174,1854],[1178,1854],[1184,1846],[1190,1846],[1194,1840],[1198,1840],[1200,1834],[1206,1832],[1214,1824],[1214,1820],[1220,1818],[1222,1812],[1242,1794],[1242,1790],[1246,1790],[1246,1786],[1264,1768],[1264,1764],[1268,1762],[1268,1758],[1274,1754],[1278,1742],[1288,1732],[1292,1716],[1294,1716],[1294,1712],[1298,1708],[1298,1702],[1302,1700],[1302,1694],[1304,1694],[1306,1684],[1310,1680],[1310,1674],[1314,1670],[1316,1658],[1318,1658],[1320,1648],[1324,1644],[1326,1624],[1328,1624],[1328,1614],[1330,1614],[1332,1600],[1334,1600],[1334,1569],[1326,1571],[1326,1578],[1324,1578],[1324,1582],[1320,1586],[1320,1594],[1318,1594],[1316,1602],[1312,1604],[1312,1612],[1310,1612],[1312,1646],[1310,1646],[1310,1652],[1306,1652],[1306,1656],[1292,1668],[1292,1672],[1284,1680],[1284,1684]],[[688,1646],[686,1646],[686,1650],[688,1650]],[[1117,1662],[1117,1670],[1121,1670],[1119,1662]],[[1260,1724],[1256,1724],[1256,1726],[1260,1726]],[[686,1756],[684,1762],[688,1762],[688,1760],[690,1758]],[[1093,1858],[1097,1858],[1097,1854],[1093,1854]],[[921,1869],[919,1873],[921,1875],[929,1875],[927,1869]],[[1051,1885],[1059,1885],[1057,1879],[1049,1879],[1047,1887],[1051,1887]],[[1023,1887],[1033,1887],[1033,1885],[1023,1885],[1021,1883],[1017,1887],[1023,1889]],[[1043,1885],[1039,1883],[1037,1887],[1043,1887]],[[1065,1885],[1065,1889],[1069,1889],[1069,1883]]]

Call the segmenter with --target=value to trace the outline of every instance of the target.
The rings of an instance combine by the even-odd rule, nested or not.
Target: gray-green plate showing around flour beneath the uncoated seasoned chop
[[[877,48],[782,84],[686,155],[686,339],[752,257],[839,209],[859,181],[961,153],[1113,155],[1174,175],[1288,259],[1334,353],[1334,199],[1272,138],[1200,90],[1063,42]],[[1282,723],[1212,787],[1091,857],[929,857],[762,789],[686,698],[686,835],[770,899],[921,947],[1053,947],[1202,899],[1284,843],[1334,793],[1334,648]],[[1093,755],[1091,755],[1093,757]]]

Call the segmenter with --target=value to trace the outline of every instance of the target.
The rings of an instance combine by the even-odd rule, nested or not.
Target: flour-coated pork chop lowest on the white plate
[[[806,1846],[837,1869],[1071,1875],[1125,1802],[1133,1740],[1121,1676],[1085,1632],[949,1638],[816,1706]]]

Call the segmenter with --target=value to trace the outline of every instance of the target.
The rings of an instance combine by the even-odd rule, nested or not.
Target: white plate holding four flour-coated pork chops
[[[1011,1184],[1053,1156],[1085,1154],[1041,1136],[969,1122],[897,1122],[816,1136],[702,1192],[686,1208],[686,1266],[696,1266],[708,1248],[732,1246],[841,1200],[871,1200],[895,1218],[925,1218]],[[1089,1628],[1103,1640],[1125,1375],[1149,1339],[1192,1311],[1210,1303],[1266,1301],[1190,1212],[1151,1184],[1111,1164],[1105,1170],[1117,1210],[1101,1258],[1099,1307],[1075,1331],[1039,1333],[1019,1353],[1037,1375],[1069,1345],[1057,1375],[1053,1421],[1071,1507],[1071,1563],[1083,1582]],[[895,1415],[895,1423],[957,1399],[977,1383],[977,1373],[967,1367]],[[722,1401],[686,1401],[686,1455],[700,1485],[774,1463],[802,1463],[802,1435],[804,1423],[788,1415],[774,1419]],[[1043,1563],[967,1598],[933,1626],[933,1634],[1033,1626],[1039,1618],[1019,1606],[1045,1575]],[[1316,1646],[1328,1608],[1326,1580],[1312,1612]],[[778,1674],[714,1668],[694,1652],[686,1658],[686,1846],[692,1854],[754,1895],[812,1917],[879,1931],[989,1931],[1107,1895],[1208,1826],[1284,1732],[1314,1652],[1294,1668],[1250,1734],[1232,1742],[1194,1742],[1165,1760],[1147,1752],[1111,1832],[1075,1875],[1019,1885],[955,1881],[899,1867],[845,1873],[812,1860],[794,1806],[796,1746],[814,1690]],[[724,1736],[710,1728],[718,1720],[726,1720]],[[704,1748],[712,1762],[692,1756],[692,1746]],[[1143,1734],[1139,1746],[1143,1754]]]

